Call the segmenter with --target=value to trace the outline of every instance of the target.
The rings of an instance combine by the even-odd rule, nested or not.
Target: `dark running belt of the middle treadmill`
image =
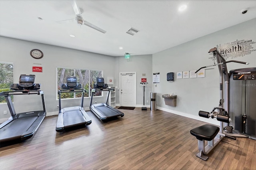
[[[64,127],[85,124],[84,117],[80,110],[64,112],[63,114]]]

